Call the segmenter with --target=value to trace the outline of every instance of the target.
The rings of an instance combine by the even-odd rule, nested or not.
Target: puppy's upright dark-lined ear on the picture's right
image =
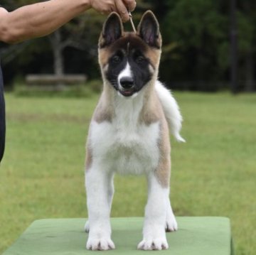
[[[159,31],[159,23],[152,11],[146,11],[139,22],[139,36],[146,44],[151,47],[161,48],[161,34]]]

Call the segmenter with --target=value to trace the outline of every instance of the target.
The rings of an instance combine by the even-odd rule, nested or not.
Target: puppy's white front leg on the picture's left
[[[114,249],[111,240],[109,190],[112,177],[104,170],[90,168],[86,172],[87,209],[90,232],[86,248],[91,250]]]

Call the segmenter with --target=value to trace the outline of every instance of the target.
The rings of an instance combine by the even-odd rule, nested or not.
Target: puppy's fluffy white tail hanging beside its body
[[[161,105],[164,109],[164,115],[166,116],[166,120],[169,124],[171,134],[174,135],[177,141],[183,143],[186,142],[180,135],[181,122],[183,119],[176,100],[169,89],[166,89],[166,87],[164,87],[164,85],[159,81],[156,81],[156,93],[158,94]]]

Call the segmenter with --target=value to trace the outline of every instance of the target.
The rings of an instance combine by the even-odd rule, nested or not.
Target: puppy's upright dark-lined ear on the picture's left
[[[124,27],[120,16],[116,12],[110,13],[105,21],[99,40],[100,48],[104,48],[115,40],[119,39],[124,33]]]

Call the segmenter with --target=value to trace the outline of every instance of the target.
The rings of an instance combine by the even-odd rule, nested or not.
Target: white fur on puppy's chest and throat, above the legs
[[[92,121],[90,146],[92,165],[122,174],[142,174],[155,170],[159,162],[159,122],[140,123],[143,99],[115,100],[112,122]]]

